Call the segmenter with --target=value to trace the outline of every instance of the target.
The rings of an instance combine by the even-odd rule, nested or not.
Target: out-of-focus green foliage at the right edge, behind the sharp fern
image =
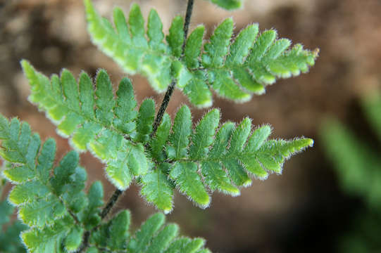
[[[370,126],[381,141],[381,94],[361,101]],[[381,250],[381,156],[363,143],[347,126],[330,119],[321,132],[327,156],[335,164],[342,189],[366,202],[367,208],[351,221],[352,229],[342,236],[340,252]]]

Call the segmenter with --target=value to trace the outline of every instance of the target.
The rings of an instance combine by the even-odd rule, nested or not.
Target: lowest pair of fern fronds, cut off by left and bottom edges
[[[18,207],[18,217],[29,226],[21,235],[30,252],[74,252],[79,249],[85,231],[90,235],[92,248],[88,252],[209,252],[204,240],[177,238],[178,227],[163,227],[163,214],[151,216],[135,234],[128,229],[130,213],[125,210],[110,221],[101,222],[103,186],[96,181],[87,194],[83,191],[87,174],[79,165],[75,151],[66,154],[53,169],[56,143],[49,138],[41,145],[27,123],[11,122],[0,115],[0,155],[7,161],[4,175],[15,186],[8,200]],[[0,205],[0,225],[8,222],[13,212],[7,202]],[[15,223],[0,235],[8,241],[7,252],[15,252],[12,242],[15,233],[25,228]],[[179,242],[182,243],[179,243]],[[1,243],[1,247],[3,244]],[[5,244],[6,245],[6,244]],[[12,251],[13,250],[13,251]]]

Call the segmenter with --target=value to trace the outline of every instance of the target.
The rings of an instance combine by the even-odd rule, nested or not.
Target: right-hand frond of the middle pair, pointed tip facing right
[[[219,121],[220,112],[213,109],[192,129],[189,108],[183,105],[171,130],[167,120],[161,124],[165,131],[157,138],[167,148],[155,150],[161,155],[154,159],[157,169],[142,175],[140,181],[147,201],[170,212],[172,188],[176,187],[196,205],[207,207],[211,201],[208,189],[239,195],[238,187],[249,186],[251,176],[266,179],[270,173],[281,174],[287,158],[313,144],[309,138],[270,140],[270,126],[253,130],[248,118],[237,127],[227,122],[216,133]]]

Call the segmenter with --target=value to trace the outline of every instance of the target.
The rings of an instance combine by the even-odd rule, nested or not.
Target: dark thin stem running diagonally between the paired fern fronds
[[[184,56],[185,44],[187,43],[189,25],[190,25],[190,20],[191,20],[192,11],[193,11],[193,3],[194,3],[194,0],[188,0],[187,14],[185,15],[185,22],[184,22],[184,29],[183,29],[184,30],[184,42],[182,43],[182,56]],[[167,110],[168,103],[170,101],[170,97],[173,94],[173,89],[175,89],[175,85],[176,85],[176,82],[175,82],[175,80],[173,80],[170,83],[170,85],[168,86],[167,91],[165,92],[163,102],[160,105],[160,108],[158,110],[158,114],[156,115],[154,124],[152,125],[152,133],[150,135],[151,137],[153,137],[156,134],[156,131],[158,130],[158,126],[159,126],[159,124],[161,124],[161,120],[163,119],[163,115],[165,113],[165,110]],[[111,198],[108,200],[106,207],[104,207],[104,209],[102,209],[102,211],[101,211],[101,219],[104,219],[107,216],[107,214],[111,211],[111,209],[113,208],[115,203],[118,201],[118,198],[120,197],[120,195],[122,195],[122,193],[123,193],[122,190],[119,190],[119,189],[115,190],[115,192],[113,193]],[[93,230],[96,230],[96,228],[98,228],[98,227],[95,227]],[[90,232],[91,231],[85,232],[82,246],[80,247],[80,249],[77,250],[77,252],[83,252],[89,246]]]

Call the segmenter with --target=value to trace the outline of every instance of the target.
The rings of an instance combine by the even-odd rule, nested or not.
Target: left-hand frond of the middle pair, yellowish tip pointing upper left
[[[136,100],[129,79],[123,79],[114,98],[108,74],[96,75],[95,91],[91,79],[80,75],[79,84],[68,70],[51,80],[22,61],[29,80],[32,103],[58,125],[58,133],[70,136],[77,150],[89,150],[106,167],[108,178],[125,190],[132,179],[145,174],[149,160],[143,145],[148,141],[154,121],[154,101],[144,100],[136,110]]]

